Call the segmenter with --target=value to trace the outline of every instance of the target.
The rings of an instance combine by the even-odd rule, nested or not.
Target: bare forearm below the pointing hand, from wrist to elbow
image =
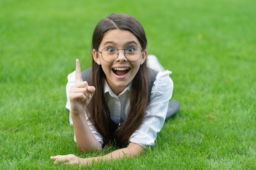
[[[85,114],[71,114],[77,147],[82,150],[101,150],[99,142],[90,130]]]

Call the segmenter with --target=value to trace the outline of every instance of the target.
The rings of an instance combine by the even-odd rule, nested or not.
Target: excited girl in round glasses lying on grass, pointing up
[[[92,161],[136,157],[154,145],[166,118],[173,82],[170,71],[160,71],[149,92],[146,46],[142,25],[130,15],[113,13],[97,24],[89,77],[82,81],[76,60],[76,71],[68,75],[66,107],[81,151],[102,150],[110,142],[126,147],[101,157],[58,155],[51,157],[54,163],[87,165]]]

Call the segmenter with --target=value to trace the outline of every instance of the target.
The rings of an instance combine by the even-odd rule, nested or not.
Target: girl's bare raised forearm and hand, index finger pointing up
[[[69,98],[71,106],[70,113],[76,135],[76,144],[82,151],[85,149],[101,149],[101,146],[92,134],[85,117],[85,107],[90,103],[94,92],[95,88],[93,86],[88,86],[87,82],[81,81],[80,63],[79,60],[76,60],[76,81],[70,88]]]

